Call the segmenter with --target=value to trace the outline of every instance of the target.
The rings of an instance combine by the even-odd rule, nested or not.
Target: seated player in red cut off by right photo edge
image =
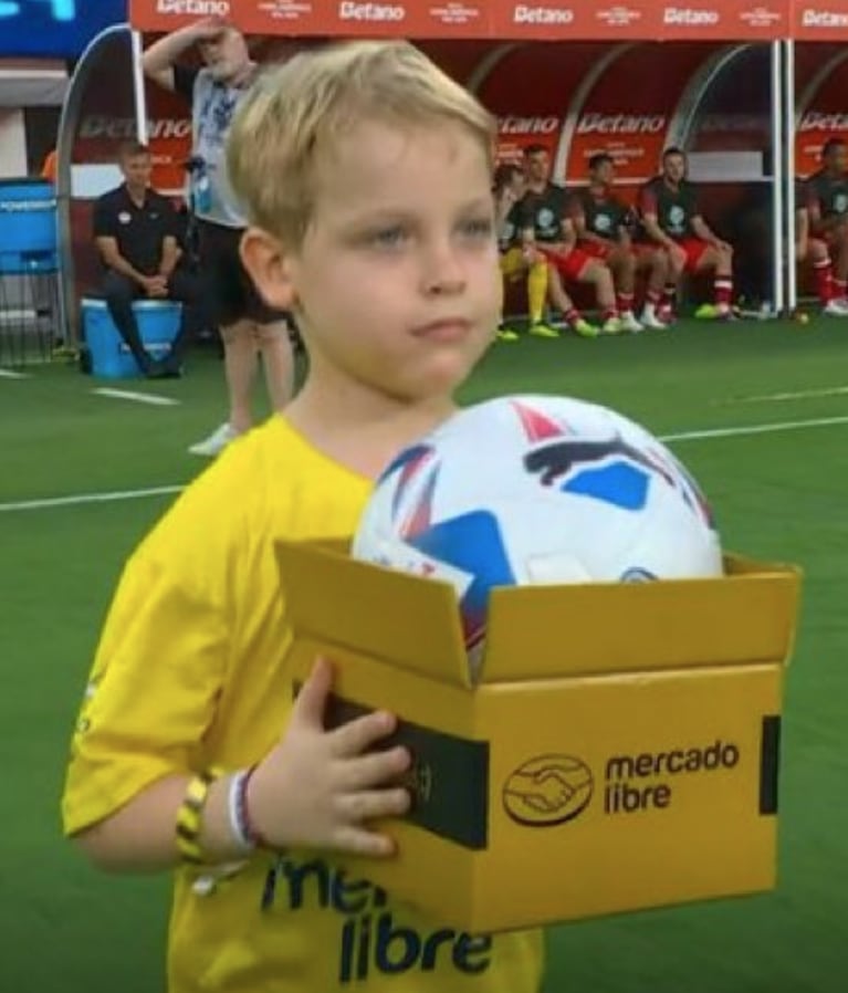
[[[827,245],[834,265],[833,300],[824,312],[848,314],[848,146],[828,138],[821,149],[821,168],[806,184],[810,234]]]

